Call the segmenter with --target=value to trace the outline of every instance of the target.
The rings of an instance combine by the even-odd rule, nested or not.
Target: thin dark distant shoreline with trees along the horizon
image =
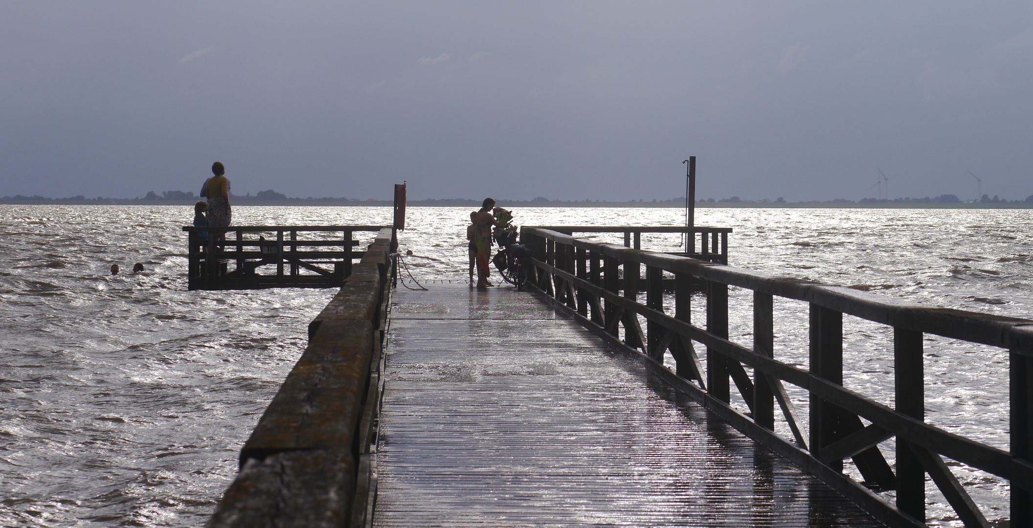
[[[132,199],[132,198],[25,198],[0,199],[4,206],[193,206],[195,199]],[[249,207],[393,207],[390,200],[348,200],[348,199],[305,199],[287,198],[276,200],[260,200],[243,198],[232,201],[233,206]],[[504,208],[669,208],[684,209],[684,203],[677,201],[532,201],[532,200],[498,200]],[[407,207],[462,207],[478,209],[480,201],[466,199],[419,199],[410,200]],[[696,209],[1033,209],[1033,203],[1010,204],[938,204],[924,201],[906,203],[843,203],[843,201],[785,201],[785,203],[752,203],[752,201],[699,201]]]

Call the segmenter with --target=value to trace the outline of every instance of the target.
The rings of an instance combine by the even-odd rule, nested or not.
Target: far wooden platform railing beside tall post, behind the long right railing
[[[728,234],[731,227],[685,227],[678,225],[536,225],[538,229],[549,229],[565,235],[575,232],[623,232],[624,246],[641,249],[644,232],[686,234],[686,251],[672,253],[691,256],[711,262],[728,263]],[[698,243],[697,243],[698,242]],[[697,251],[698,249],[698,251]]]

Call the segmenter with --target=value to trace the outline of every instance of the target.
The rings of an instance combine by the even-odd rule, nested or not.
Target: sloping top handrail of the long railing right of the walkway
[[[720,282],[777,297],[814,303],[846,314],[951,339],[1018,350],[1033,355],[1033,319],[929,307],[860,291],[847,286],[824,284],[792,277],[733,268],[687,256],[632,249],[616,244],[591,242],[542,227],[525,227],[532,235],[598,251],[606,256],[660,268],[671,273]]]

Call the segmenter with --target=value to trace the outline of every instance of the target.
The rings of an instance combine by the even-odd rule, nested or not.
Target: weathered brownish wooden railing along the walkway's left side
[[[370,526],[392,245],[381,230],[309,324],[209,528]]]

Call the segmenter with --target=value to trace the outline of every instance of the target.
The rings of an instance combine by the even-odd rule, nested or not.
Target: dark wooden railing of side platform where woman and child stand
[[[351,274],[355,232],[383,225],[230,225],[184,226],[187,232],[189,289],[339,287]],[[200,232],[208,232],[206,238]],[[236,240],[230,234],[236,232]],[[225,234],[225,240],[219,236]],[[269,236],[262,241],[259,237]],[[302,239],[301,236],[316,238]],[[328,235],[328,236],[327,236]],[[333,249],[339,248],[339,249]],[[211,263],[211,265],[210,265]],[[230,269],[229,265],[233,268]],[[260,274],[272,266],[274,273]]]

